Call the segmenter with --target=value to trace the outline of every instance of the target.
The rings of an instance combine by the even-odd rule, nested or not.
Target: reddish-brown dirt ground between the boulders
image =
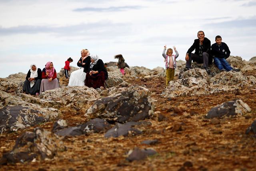
[[[254,75],[255,73],[244,73]],[[161,97],[165,78],[126,78],[132,85],[146,85],[155,99],[155,113],[141,135],[104,138],[104,133],[66,137],[66,151],[59,151],[54,159],[0,166],[0,170],[202,170],[202,171],[253,171],[256,169],[256,137],[246,135],[248,126],[256,119],[256,86],[243,87],[242,91],[215,93],[196,97]],[[205,119],[214,106],[233,99],[242,99],[251,113],[234,118]],[[68,125],[84,123],[85,111],[62,111],[60,118]],[[161,117],[163,115],[164,117]],[[51,130],[52,122],[35,127]],[[176,131],[176,125],[181,125]],[[24,131],[0,135],[0,157],[10,151],[16,138]],[[158,139],[154,145],[141,144],[144,140]],[[153,148],[158,154],[145,160],[129,162],[129,150]],[[186,161],[192,167],[183,166]],[[191,165],[190,163],[190,165]],[[186,164],[185,164],[186,165]]]

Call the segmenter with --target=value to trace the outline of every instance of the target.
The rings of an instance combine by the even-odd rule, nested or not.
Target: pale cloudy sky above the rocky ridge
[[[0,78],[48,61],[60,72],[69,57],[76,66],[82,49],[103,62],[122,54],[129,66],[164,67],[164,45],[185,60],[199,30],[250,60],[256,0],[0,0]]]

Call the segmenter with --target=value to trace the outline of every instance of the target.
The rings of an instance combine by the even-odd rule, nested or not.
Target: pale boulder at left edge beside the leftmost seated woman
[[[18,74],[11,74],[6,78],[0,78],[0,90],[11,92],[22,92],[26,74],[19,72]]]

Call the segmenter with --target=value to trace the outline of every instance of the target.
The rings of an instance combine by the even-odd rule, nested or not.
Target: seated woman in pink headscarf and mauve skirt
[[[45,68],[42,70],[42,82],[40,93],[48,89],[54,89],[60,87],[57,79],[56,70],[53,67],[52,62],[47,62]]]

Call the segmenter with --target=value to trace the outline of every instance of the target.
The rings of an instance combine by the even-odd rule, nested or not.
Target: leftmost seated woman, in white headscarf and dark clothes
[[[39,95],[40,85],[42,79],[42,70],[36,67],[36,64],[30,66],[26,80],[23,85],[23,91],[26,94]]]

